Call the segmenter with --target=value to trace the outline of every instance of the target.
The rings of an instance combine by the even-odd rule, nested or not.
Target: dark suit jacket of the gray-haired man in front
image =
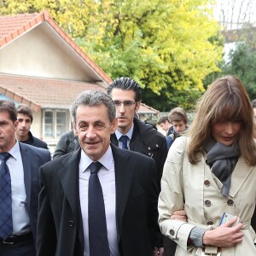
[[[38,256],[83,256],[84,236],[79,204],[80,150],[40,168]],[[119,253],[121,256],[152,256],[152,241],[160,231],[154,160],[113,145],[112,150]]]

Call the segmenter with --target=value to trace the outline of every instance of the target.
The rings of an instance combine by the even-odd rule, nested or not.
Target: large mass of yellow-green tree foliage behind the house
[[[137,80],[145,88],[143,102],[161,110],[172,104],[191,108],[205,90],[203,80],[219,71],[223,47],[212,16],[213,3],[5,0],[0,14],[48,9],[112,79]]]

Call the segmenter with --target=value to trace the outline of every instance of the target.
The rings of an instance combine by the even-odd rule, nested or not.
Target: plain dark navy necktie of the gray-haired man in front
[[[100,162],[90,164],[88,190],[90,256],[110,255],[102,186],[97,174],[101,167]]]

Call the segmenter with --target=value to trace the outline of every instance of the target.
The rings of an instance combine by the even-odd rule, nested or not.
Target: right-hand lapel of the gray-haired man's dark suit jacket
[[[113,152],[115,171],[116,218],[119,241],[119,230],[121,230],[122,218],[131,188],[133,172],[135,172],[135,165],[129,161],[130,155],[125,150],[116,148],[113,145],[111,145],[111,148]]]

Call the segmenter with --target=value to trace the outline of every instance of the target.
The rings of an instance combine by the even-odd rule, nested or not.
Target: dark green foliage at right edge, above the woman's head
[[[256,49],[245,42],[237,43],[236,49],[230,51],[229,59],[223,67],[223,75],[233,74],[241,79],[253,100],[256,98]]]

